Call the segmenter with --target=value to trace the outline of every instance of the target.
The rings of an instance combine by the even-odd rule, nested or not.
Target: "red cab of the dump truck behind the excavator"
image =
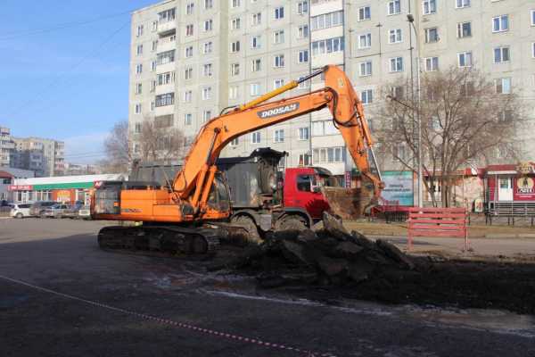
[[[321,220],[329,210],[329,203],[321,187],[333,186],[329,170],[317,167],[289,168],[284,171],[283,205],[301,207],[309,212],[312,220]]]

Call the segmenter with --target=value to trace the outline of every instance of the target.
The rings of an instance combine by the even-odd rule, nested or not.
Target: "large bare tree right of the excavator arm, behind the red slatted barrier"
[[[449,206],[458,170],[470,163],[516,157],[514,132],[522,122],[522,109],[511,88],[501,87],[472,69],[427,73],[421,87],[420,105],[417,95],[408,95],[411,87],[407,80],[383,88],[383,96],[390,100],[377,108],[381,126],[375,136],[383,154],[416,171],[419,113],[427,177],[424,185],[437,205],[435,189],[430,186],[440,183],[440,202]]]

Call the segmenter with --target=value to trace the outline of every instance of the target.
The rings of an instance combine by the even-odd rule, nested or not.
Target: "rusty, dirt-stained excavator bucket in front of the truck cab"
[[[374,187],[371,181],[363,179],[359,187],[322,187],[330,212],[343,220],[357,220],[369,215],[374,203]]]

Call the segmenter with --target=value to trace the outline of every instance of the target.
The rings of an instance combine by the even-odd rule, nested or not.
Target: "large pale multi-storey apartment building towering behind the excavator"
[[[474,66],[490,73],[497,90],[514,88],[527,104],[535,99],[535,4],[526,1],[169,0],[134,12],[131,31],[134,134],[154,120],[191,140],[224,108],[330,63],[350,75],[372,129],[380,87],[409,76],[411,65],[416,71],[418,56],[422,71]],[[316,78],[285,95],[322,86]],[[533,158],[532,132],[518,135],[524,159]],[[223,154],[259,146],[287,151],[288,166],[312,162],[336,175],[352,167],[326,110],[239,137]]]

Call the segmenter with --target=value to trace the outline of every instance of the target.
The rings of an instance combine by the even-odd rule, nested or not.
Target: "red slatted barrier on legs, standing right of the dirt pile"
[[[462,237],[468,250],[468,229],[464,208],[418,208],[408,212],[407,248],[413,237]]]

